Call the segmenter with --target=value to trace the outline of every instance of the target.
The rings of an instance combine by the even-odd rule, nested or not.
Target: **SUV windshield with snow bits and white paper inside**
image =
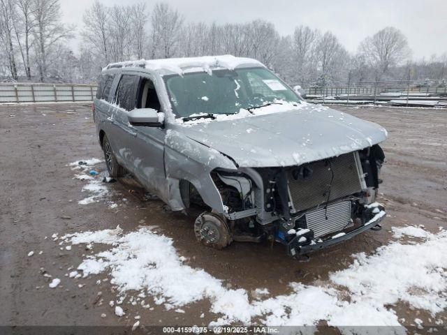
[[[164,77],[177,117],[236,114],[241,108],[272,103],[300,103],[284,82],[265,68],[212,70]]]

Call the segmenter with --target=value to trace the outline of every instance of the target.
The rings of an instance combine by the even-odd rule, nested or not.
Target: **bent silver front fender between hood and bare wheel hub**
[[[219,151],[191,140],[178,131],[168,130],[165,140],[165,170],[169,187],[169,202],[173,210],[184,209],[179,191],[179,181],[189,181],[196,188],[203,202],[223,213],[219,190],[210,172],[215,168],[237,171],[230,158]]]

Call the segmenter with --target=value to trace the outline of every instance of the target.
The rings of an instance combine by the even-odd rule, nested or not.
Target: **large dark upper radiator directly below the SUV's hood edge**
[[[362,191],[362,174],[358,153],[351,152],[326,160],[310,163],[312,176],[307,179],[295,179],[293,169],[288,171],[288,190],[295,211],[302,211],[328,200],[335,200]],[[334,173],[334,179],[329,185]],[[328,197],[329,195],[329,197]]]

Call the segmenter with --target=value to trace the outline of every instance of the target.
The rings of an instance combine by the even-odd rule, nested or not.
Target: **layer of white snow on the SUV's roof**
[[[119,63],[112,63],[103,68],[103,70],[108,70],[110,68],[147,68],[150,70],[155,70],[159,73],[178,73],[182,75],[185,72],[191,72],[194,70],[205,70],[209,71],[212,67],[228,68],[233,70],[238,66],[264,66],[261,62],[256,61],[256,59],[244,58],[244,57],[234,57],[230,54],[224,54],[221,56],[203,56],[203,57],[184,57],[184,58],[168,58],[168,59],[140,59],[139,61],[122,61]]]

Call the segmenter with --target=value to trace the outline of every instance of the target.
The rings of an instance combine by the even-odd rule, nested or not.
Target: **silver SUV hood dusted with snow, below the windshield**
[[[300,165],[371,147],[387,138],[378,124],[307,103],[286,112],[178,127],[191,140],[245,168]]]

